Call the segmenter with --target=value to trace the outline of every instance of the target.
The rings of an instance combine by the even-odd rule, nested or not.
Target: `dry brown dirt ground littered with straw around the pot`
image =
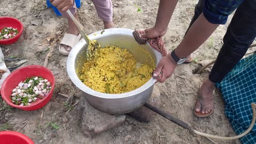
[[[169,30],[163,37],[167,51],[171,52],[182,40],[194,14],[197,1],[180,0],[174,11]],[[113,0],[115,27],[144,29],[153,26],[156,19],[159,0],[124,1]],[[141,12],[137,12],[138,5]],[[25,65],[43,65],[50,53],[47,68],[52,70],[56,87],[51,101],[42,109],[22,111],[6,106],[1,99],[0,131],[12,130],[26,134],[35,143],[239,143],[238,140],[209,140],[156,115],[150,123],[140,123],[127,116],[119,127],[109,131],[85,137],[81,130],[81,119],[76,106],[79,90],[68,78],[67,57],[61,55],[58,46],[67,30],[67,20],[57,17],[52,9],[47,9],[44,0],[5,0],[0,1],[0,16],[18,18],[24,25],[19,41],[11,45],[1,45],[6,58],[18,57],[28,60]],[[81,3],[78,16],[87,34],[103,28],[91,1]],[[202,132],[216,135],[235,135],[224,114],[221,94],[214,94],[214,112],[210,117],[198,118],[194,115],[194,106],[198,87],[209,75],[206,69],[202,74],[193,74],[202,60],[217,57],[222,45],[228,23],[221,25],[214,34],[193,53],[194,61],[180,65],[174,75],[165,83],[157,83],[161,91],[162,109],[185,121]],[[32,25],[36,23],[36,25]],[[38,26],[37,26],[38,25]],[[13,63],[6,62],[7,66]],[[69,95],[63,97],[58,93]]]

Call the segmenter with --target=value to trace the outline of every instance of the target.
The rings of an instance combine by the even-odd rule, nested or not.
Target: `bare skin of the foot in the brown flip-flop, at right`
[[[213,90],[215,89],[214,87],[215,83],[212,83],[209,78],[207,78],[203,84],[201,85],[199,89],[199,93],[202,95],[203,98],[210,98],[213,97]],[[213,109],[213,103],[207,102],[209,105],[205,105],[202,108],[201,111],[201,103],[199,101],[196,102],[196,107],[195,110],[196,112],[201,111],[202,114],[207,114],[211,112]]]

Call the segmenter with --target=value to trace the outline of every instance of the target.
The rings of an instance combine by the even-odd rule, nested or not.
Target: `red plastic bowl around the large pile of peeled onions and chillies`
[[[18,106],[12,103],[12,100],[10,98],[10,95],[12,94],[12,90],[21,81],[25,81],[26,78],[33,77],[33,76],[42,76],[43,78],[46,78],[48,79],[48,81],[51,82],[52,89],[50,90],[49,94],[46,95],[46,97],[44,97],[43,99],[37,99],[35,102],[31,102],[31,105],[29,106]],[[52,98],[53,90],[54,90],[54,84],[55,84],[55,79],[51,70],[38,65],[30,65],[30,66],[19,68],[6,77],[1,87],[1,95],[3,100],[5,100],[6,103],[11,107],[19,108],[27,111],[36,110],[36,109],[42,108],[43,106],[46,105],[47,102],[50,101],[50,99]]]

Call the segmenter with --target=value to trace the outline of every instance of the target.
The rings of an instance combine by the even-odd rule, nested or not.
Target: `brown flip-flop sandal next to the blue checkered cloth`
[[[213,94],[214,94],[214,92],[215,92],[215,89],[213,90]],[[209,105],[209,104],[213,103],[213,95],[210,98],[204,98],[199,93],[199,90],[198,90],[197,101],[199,101],[200,104],[201,104],[201,108],[200,108],[201,110],[199,112],[196,112],[196,109],[194,109],[195,115],[197,117],[207,117],[207,116],[210,116],[213,113],[213,109],[210,112],[208,112],[208,113],[204,113],[204,114],[201,113],[201,111],[203,109],[203,106],[206,106],[206,105]],[[196,107],[196,104],[195,104],[195,107]]]

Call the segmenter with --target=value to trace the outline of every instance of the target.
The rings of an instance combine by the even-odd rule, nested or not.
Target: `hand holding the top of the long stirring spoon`
[[[74,4],[74,0],[50,0],[50,1],[52,5],[55,6],[61,12],[66,12]]]

